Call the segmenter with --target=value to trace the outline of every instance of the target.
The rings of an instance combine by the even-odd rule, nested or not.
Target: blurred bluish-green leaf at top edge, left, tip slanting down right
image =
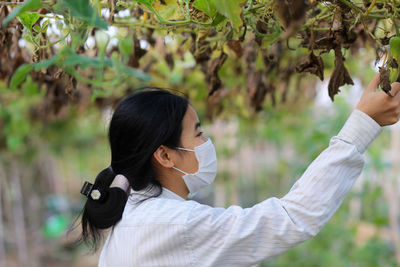
[[[59,0],[73,17],[76,17],[89,25],[101,29],[107,29],[108,23],[103,21],[90,5],[89,0]]]

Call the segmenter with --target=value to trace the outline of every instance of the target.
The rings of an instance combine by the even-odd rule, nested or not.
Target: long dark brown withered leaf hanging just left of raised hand
[[[340,92],[339,87],[345,84],[354,85],[353,80],[350,77],[349,72],[344,66],[344,57],[340,47],[335,48],[335,68],[332,72],[331,78],[328,84],[329,97],[334,99],[335,95]]]

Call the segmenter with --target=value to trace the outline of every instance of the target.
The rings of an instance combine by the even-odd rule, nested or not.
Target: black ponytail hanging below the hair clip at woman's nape
[[[111,166],[102,170],[96,177],[93,187],[97,188],[105,199],[102,201],[88,197],[82,214],[82,240],[97,250],[101,241],[101,230],[115,225],[122,218],[128,196],[120,187],[110,187],[116,174]]]

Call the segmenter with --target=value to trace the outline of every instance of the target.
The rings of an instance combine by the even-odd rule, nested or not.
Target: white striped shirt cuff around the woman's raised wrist
[[[363,154],[381,132],[382,126],[373,118],[359,109],[354,109],[337,137],[354,144]]]

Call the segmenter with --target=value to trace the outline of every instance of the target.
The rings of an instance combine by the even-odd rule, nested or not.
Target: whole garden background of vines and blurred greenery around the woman
[[[100,251],[67,231],[83,182],[109,166],[113,109],[143,86],[187,95],[216,145],[215,183],[195,200],[282,197],[373,74],[384,91],[398,78],[399,12],[397,0],[0,2],[0,266],[97,266]],[[322,231],[260,266],[400,264],[399,151],[399,125],[384,127]]]

